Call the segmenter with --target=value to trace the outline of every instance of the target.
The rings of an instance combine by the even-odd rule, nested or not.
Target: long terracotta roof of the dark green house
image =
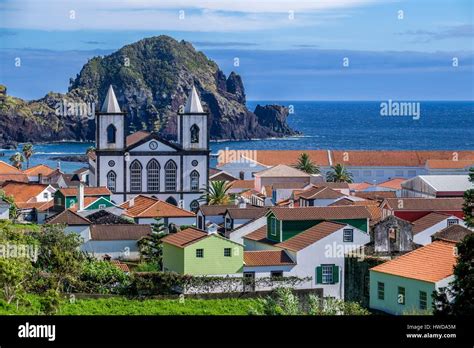
[[[366,207],[298,207],[270,209],[278,220],[335,220],[335,219],[368,219],[370,214]]]

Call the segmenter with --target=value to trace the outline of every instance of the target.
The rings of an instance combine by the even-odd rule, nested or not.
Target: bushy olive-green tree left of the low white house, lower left
[[[47,273],[52,281],[51,288],[63,291],[73,285],[81,273],[84,260],[79,250],[82,238],[76,233],[64,233],[62,225],[44,225],[33,235],[40,244],[35,266]]]

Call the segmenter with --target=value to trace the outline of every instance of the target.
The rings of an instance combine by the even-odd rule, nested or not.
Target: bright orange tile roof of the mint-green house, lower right
[[[371,271],[434,283],[453,274],[455,245],[453,242],[435,241],[373,267]]]

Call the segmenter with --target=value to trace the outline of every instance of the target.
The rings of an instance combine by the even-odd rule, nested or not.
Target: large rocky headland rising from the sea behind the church
[[[110,84],[122,110],[127,112],[129,132],[158,131],[174,138],[176,113],[194,84],[204,108],[210,112],[211,139],[296,134],[286,124],[285,108],[259,106],[255,113],[247,109],[239,75],[232,72],[226,77],[216,63],[190,43],[158,36],[124,46],[108,56],[92,58],[71,79],[65,95],[49,93],[32,102],[12,97],[6,97],[8,103],[0,101],[0,143],[93,140],[94,122],[74,109],[82,105],[91,111],[94,104],[100,108],[99,102],[104,100]]]

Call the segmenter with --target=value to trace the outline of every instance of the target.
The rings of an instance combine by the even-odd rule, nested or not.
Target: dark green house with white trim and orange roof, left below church
[[[106,187],[84,187],[84,208],[94,210],[113,206],[111,195],[112,193]],[[69,187],[57,190],[54,193],[54,210],[77,208],[78,197],[78,188]],[[99,198],[103,199],[98,200]]]

